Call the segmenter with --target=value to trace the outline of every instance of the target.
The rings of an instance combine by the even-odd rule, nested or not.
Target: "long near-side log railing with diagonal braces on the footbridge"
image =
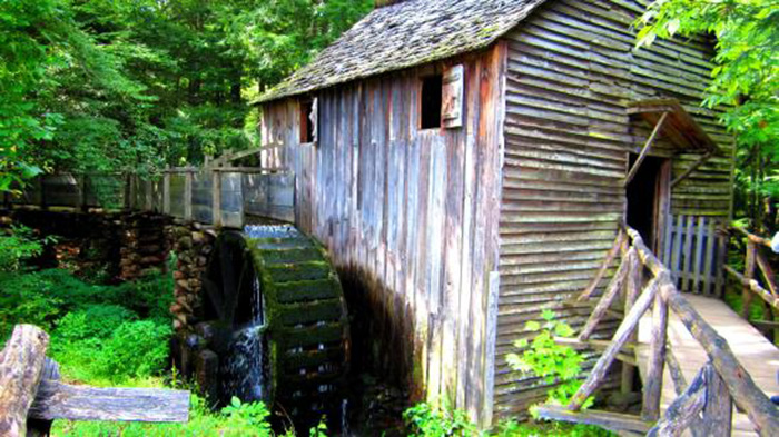
[[[623,240],[629,244],[624,244]],[[603,354],[568,406],[541,406],[540,416],[554,420],[599,425],[624,434],[678,436],[689,428],[694,436],[729,436],[734,404],[747,414],[759,435],[778,435],[777,407],[757,387],[726,339],[717,334],[678,290],[671,271],[644,245],[641,236],[625,226],[617,237],[614,248],[609,252],[605,264],[610,264],[617,252],[621,251],[621,265],[605,291],[600,296],[595,310],[574,340],[580,346],[603,349]],[[592,296],[603,276],[601,272],[596,275],[582,294],[582,300]],[[641,289],[638,295],[634,287]],[[605,309],[614,302],[620,290],[623,290],[629,309],[625,310],[623,321],[611,341],[603,348],[602,341],[596,345],[596,341],[590,339],[590,335],[603,318]],[[631,295],[638,297],[633,300]],[[605,383],[607,373],[614,360],[622,359],[621,356],[630,355],[638,347],[632,339],[640,319],[650,308],[652,328],[647,373],[643,378],[641,415],[582,411],[584,401]],[[709,358],[708,364],[689,385],[686,384],[673,355],[667,354],[667,329],[671,311],[679,317]],[[566,342],[571,344],[571,340]],[[627,361],[631,360],[628,358]],[[661,388],[667,366],[679,397],[661,417]]]

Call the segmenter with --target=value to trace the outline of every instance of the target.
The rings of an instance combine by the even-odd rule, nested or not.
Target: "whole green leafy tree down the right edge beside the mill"
[[[762,231],[776,230],[779,195],[779,1],[658,0],[638,21],[639,46],[711,34],[716,66],[703,105],[727,109],[737,136],[737,201]]]

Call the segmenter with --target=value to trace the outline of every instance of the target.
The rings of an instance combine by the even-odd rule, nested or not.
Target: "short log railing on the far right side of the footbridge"
[[[753,296],[757,295],[757,297],[763,300],[762,320],[750,320],[750,322],[763,329],[763,332],[775,329],[776,339],[776,334],[779,334],[779,322],[776,321],[779,316],[779,290],[777,290],[773,269],[768,262],[768,258],[760,251],[761,247],[770,248],[771,242],[766,238],[750,234],[743,228],[731,227],[730,230],[734,235],[746,237],[747,240],[743,274],[730,266],[724,266],[724,271],[733,277],[742,287],[741,317],[749,320],[749,308],[752,304]],[[760,279],[762,279],[765,287],[760,285]]]

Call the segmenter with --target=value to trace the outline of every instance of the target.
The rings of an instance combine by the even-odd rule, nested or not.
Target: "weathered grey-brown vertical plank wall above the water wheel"
[[[465,68],[462,128],[418,130],[427,66],[317,92],[317,145],[299,143],[296,99],[264,106],[262,137],[289,146],[279,163],[298,176],[298,227],[366,287],[379,326],[362,335],[378,337],[386,367],[486,420],[505,44],[447,63]]]

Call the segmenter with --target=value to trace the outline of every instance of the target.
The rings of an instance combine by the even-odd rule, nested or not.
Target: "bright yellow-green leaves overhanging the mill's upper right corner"
[[[726,123],[743,145],[779,140],[779,1],[659,0],[639,21],[639,44],[657,37],[717,37],[712,82],[704,105],[732,109]],[[776,153],[779,149],[771,148]]]

